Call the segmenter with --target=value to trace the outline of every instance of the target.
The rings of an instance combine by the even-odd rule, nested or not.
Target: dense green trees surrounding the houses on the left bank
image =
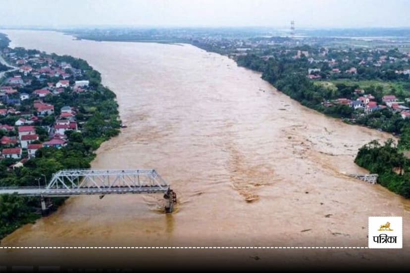
[[[4,37],[4,36],[3,36]],[[0,40],[5,41],[5,40]],[[42,175],[51,179],[53,173],[61,169],[90,168],[90,162],[95,158],[95,151],[101,143],[110,137],[119,134],[121,121],[119,119],[118,105],[114,92],[102,86],[101,75],[94,70],[85,60],[71,56],[58,56],[46,54],[24,48],[8,48],[7,43],[0,44],[0,50],[16,52],[16,54],[36,53],[42,57],[52,58],[56,62],[65,62],[73,69],[82,71],[80,80],[88,80],[89,88],[84,92],[72,92],[66,89],[58,95],[49,94],[44,98],[45,103],[54,105],[54,115],[46,115],[36,121],[36,133],[39,140],[48,137],[47,128],[52,125],[55,115],[64,105],[71,105],[76,109],[76,121],[78,130],[66,131],[67,145],[56,147],[42,147],[36,151],[35,157],[29,159],[21,168],[14,170],[9,166],[16,162],[15,159],[3,158],[0,160],[0,186],[37,186],[39,179],[44,185]],[[42,88],[34,77],[31,84],[22,87],[22,91],[31,94],[34,89]],[[77,80],[77,79],[76,79]],[[47,81],[57,81],[58,78],[48,78]],[[46,82],[47,82],[46,81]],[[36,85],[40,85],[36,86]],[[35,98],[21,101],[21,110],[26,109]],[[0,119],[1,124],[14,126],[18,116],[9,114]],[[12,137],[14,132],[3,132],[1,135]],[[24,157],[24,150],[23,150]],[[53,198],[54,207],[62,204],[65,198]],[[0,196],[0,238],[12,232],[21,225],[33,222],[40,217],[40,202],[36,197],[20,197],[17,195]]]

